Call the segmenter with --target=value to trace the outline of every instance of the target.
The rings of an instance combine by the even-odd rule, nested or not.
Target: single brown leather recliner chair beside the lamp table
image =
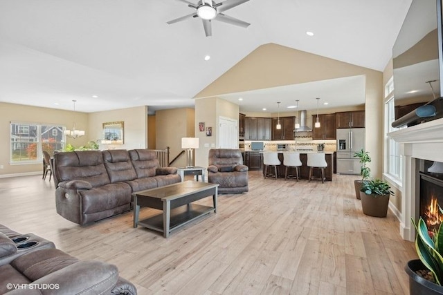
[[[218,183],[219,193],[243,193],[248,187],[248,166],[239,149],[210,149],[208,182]]]

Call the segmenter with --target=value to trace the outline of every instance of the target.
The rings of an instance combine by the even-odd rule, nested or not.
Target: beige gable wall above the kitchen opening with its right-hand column
[[[372,175],[381,177],[383,140],[383,73],[277,44],[258,47],[196,95],[217,97],[255,89],[365,75],[366,150]],[[196,115],[197,103],[196,103]],[[196,117],[196,122],[199,117]],[[308,115],[308,122],[309,122]]]

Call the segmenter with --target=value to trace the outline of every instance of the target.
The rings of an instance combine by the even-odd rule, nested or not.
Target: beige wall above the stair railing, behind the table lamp
[[[181,137],[194,137],[195,111],[192,108],[174,108],[156,111],[156,149],[170,147],[170,160],[175,158],[181,149]],[[186,166],[184,153],[172,166]]]

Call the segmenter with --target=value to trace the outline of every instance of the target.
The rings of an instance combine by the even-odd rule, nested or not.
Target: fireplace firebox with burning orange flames
[[[428,231],[437,231],[443,221],[443,163],[419,160],[419,216]]]

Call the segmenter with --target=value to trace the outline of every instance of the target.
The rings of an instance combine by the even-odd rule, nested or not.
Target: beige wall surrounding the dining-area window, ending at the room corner
[[[33,122],[60,124],[71,129],[75,119],[78,130],[86,131],[86,135],[75,140],[68,138],[67,142],[74,146],[83,146],[89,141],[89,119],[87,113],[56,110],[54,108],[39,108],[36,106],[25,106],[22,104],[7,104],[0,102],[0,175],[40,173],[42,164],[10,164],[10,122]],[[92,137],[93,140],[96,138]]]

